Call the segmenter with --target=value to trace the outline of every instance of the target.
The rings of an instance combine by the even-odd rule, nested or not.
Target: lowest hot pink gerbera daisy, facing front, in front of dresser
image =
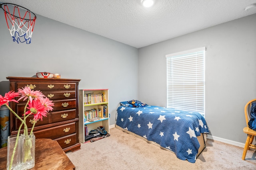
[[[32,100],[32,102],[28,103],[28,107],[27,107],[28,111],[26,111],[26,115],[27,114],[34,114],[34,119],[41,119],[41,121],[43,120],[43,116],[47,117],[47,107],[45,107],[44,105],[42,105],[42,103],[40,102],[40,100]]]

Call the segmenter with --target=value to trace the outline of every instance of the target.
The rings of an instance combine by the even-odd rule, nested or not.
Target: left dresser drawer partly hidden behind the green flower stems
[[[40,126],[40,125],[47,125],[47,124],[49,124],[50,123],[50,113],[47,113],[47,117],[43,117],[43,120],[41,121],[41,119],[39,119],[38,121],[37,121],[37,123],[35,124],[35,127],[37,127],[37,126]],[[23,116],[21,117],[22,119],[23,119]],[[31,128],[32,126],[33,126],[33,120],[34,119],[34,115],[30,115],[30,116],[28,116],[27,118],[26,118],[26,125],[27,125],[27,127],[28,128]],[[18,130],[19,129],[19,127],[20,127],[20,125],[21,125],[21,121],[16,117],[15,118],[15,130]],[[22,126],[22,128],[21,129],[24,129],[24,125]]]

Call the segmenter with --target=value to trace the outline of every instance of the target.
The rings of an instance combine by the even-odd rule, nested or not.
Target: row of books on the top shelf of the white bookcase
[[[94,93],[86,93],[84,94],[84,104],[94,104],[106,102],[106,94],[105,92],[100,92],[98,94]]]

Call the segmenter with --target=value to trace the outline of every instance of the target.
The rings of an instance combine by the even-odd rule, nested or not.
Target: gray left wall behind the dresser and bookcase
[[[36,15],[30,44],[16,43],[0,10],[0,94],[9,90],[7,76],[36,72],[81,79],[79,89],[109,89],[110,125],[120,101],[138,98],[138,49]]]

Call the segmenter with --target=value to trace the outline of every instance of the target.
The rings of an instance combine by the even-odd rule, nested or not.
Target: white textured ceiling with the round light
[[[256,0],[155,0],[150,8],[141,0],[0,1],[136,48],[256,13],[244,10]]]

